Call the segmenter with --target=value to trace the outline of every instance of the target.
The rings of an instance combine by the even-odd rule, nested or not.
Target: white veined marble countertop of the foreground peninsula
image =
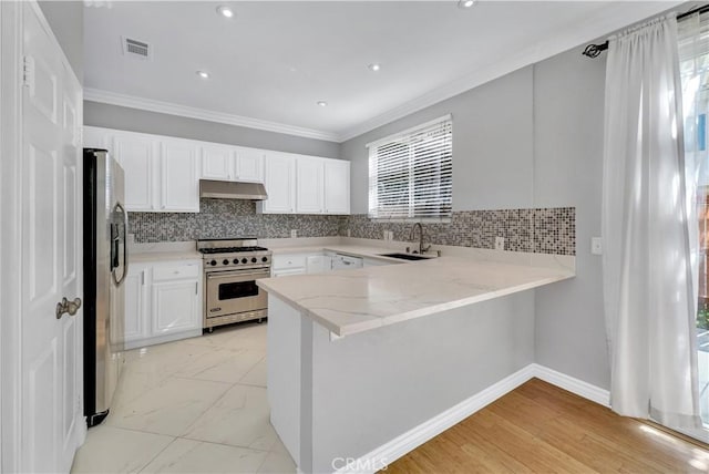
[[[340,251],[338,247],[346,248],[352,255],[369,254],[364,251],[367,248],[357,246],[320,248]],[[381,248],[370,250],[382,253]],[[257,285],[331,332],[348,336],[574,276],[571,267],[543,267],[455,256],[407,265],[267,278],[257,280]]]

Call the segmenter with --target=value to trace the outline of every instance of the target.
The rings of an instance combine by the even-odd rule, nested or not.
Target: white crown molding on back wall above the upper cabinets
[[[103,104],[138,109],[168,115],[178,115],[189,118],[204,120],[207,122],[225,123],[227,125],[244,126],[248,128],[263,130],[266,132],[284,133],[287,135],[302,136],[306,138],[325,140],[327,142],[339,141],[339,135],[330,132],[287,125],[278,122],[269,122],[243,115],[227,114],[224,112],[215,112],[206,109],[191,107],[187,105],[155,101],[153,99],[137,97],[134,95],[120,94],[117,92],[102,91],[99,89],[84,89],[84,101],[100,102]]]

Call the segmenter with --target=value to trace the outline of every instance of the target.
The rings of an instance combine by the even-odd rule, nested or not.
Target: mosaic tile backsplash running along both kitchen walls
[[[366,214],[318,216],[257,214],[256,203],[201,199],[198,214],[130,213],[130,231],[137,243],[184,241],[198,238],[257,236],[260,238],[349,236],[381,239],[393,231],[407,241],[411,223],[371,220]],[[574,207],[502,210],[459,210],[450,223],[424,224],[427,244],[494,248],[495,237],[505,238],[505,250],[576,255]],[[418,236],[417,236],[418,240]]]

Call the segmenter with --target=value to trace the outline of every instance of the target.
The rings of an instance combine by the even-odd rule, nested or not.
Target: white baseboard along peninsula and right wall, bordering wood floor
[[[336,471],[337,474],[370,474],[383,470],[404,454],[413,451],[421,444],[441,434],[451,426],[465,420],[479,410],[482,410],[499,398],[513,391],[524,382],[533,378],[567,390],[584,399],[608,406],[609,394],[607,390],[586,383],[582,380],[563,374],[537,363],[516,371],[497,383],[450,408],[443,413],[421,423],[400,436],[391,440],[382,446],[351,461],[346,466]]]

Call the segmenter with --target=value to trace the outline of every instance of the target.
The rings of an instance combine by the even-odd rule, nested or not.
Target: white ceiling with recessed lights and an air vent
[[[88,100],[337,142],[679,2],[86,3]]]

